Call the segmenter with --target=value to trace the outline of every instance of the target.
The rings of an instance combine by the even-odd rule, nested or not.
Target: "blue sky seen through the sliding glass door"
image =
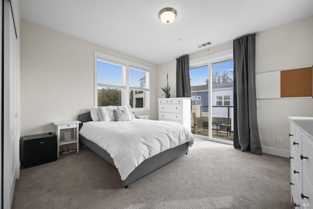
[[[228,72],[229,77],[233,78],[233,72],[230,70],[233,70],[233,60],[228,60],[225,62],[220,62],[212,65],[212,73],[219,72],[220,75],[223,74],[224,71]],[[209,77],[208,76],[208,66],[203,66],[200,68],[191,69],[189,71],[190,75],[190,84],[191,86],[198,86],[198,85],[204,85],[205,80]]]

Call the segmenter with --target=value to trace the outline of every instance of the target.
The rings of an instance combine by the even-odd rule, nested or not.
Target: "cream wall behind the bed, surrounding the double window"
[[[156,98],[156,65],[21,21],[22,136],[55,131],[53,121],[77,119],[94,105],[94,50],[150,66]],[[151,110],[156,105],[151,102]],[[156,119],[154,111],[136,114]]]

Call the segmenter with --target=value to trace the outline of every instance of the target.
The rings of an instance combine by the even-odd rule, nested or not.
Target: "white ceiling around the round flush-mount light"
[[[158,12],[177,10],[174,23]],[[20,0],[21,18],[161,64],[313,15],[313,0]],[[181,41],[179,41],[181,39]]]

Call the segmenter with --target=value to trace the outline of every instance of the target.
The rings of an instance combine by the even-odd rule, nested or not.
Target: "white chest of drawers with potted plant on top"
[[[158,119],[180,123],[191,129],[191,98],[158,99]]]

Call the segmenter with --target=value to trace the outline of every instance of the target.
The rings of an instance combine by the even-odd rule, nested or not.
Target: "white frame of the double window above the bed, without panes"
[[[151,67],[145,66],[139,63],[135,63],[123,58],[115,57],[109,54],[105,54],[99,51],[94,51],[94,107],[98,106],[98,83],[97,83],[97,61],[101,60],[104,62],[108,62],[114,65],[123,66],[122,68],[122,86],[115,85],[104,85],[107,87],[120,88],[122,90],[121,93],[121,105],[130,105],[130,90],[133,91],[144,91],[144,108],[135,108],[132,107],[132,111],[150,111],[150,72]],[[129,73],[130,69],[140,70],[145,72],[145,88],[135,88],[129,86]]]

